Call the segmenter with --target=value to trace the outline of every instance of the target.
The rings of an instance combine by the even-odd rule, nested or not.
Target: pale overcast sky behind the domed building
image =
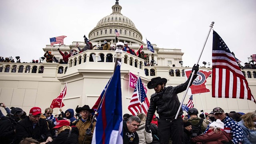
[[[0,56],[38,60],[50,37],[67,36],[64,44],[83,42],[83,35],[112,13],[115,0],[0,0]],[[183,66],[198,60],[209,25],[236,54],[248,62],[256,54],[256,0],[119,0],[130,18],[159,48],[184,52]],[[212,31],[199,64],[211,62]]]

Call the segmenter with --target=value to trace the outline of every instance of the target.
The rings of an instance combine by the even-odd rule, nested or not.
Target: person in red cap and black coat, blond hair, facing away
[[[70,127],[67,120],[59,120],[54,128],[57,129],[58,136],[52,142],[42,142],[40,144],[78,144],[78,129]]]

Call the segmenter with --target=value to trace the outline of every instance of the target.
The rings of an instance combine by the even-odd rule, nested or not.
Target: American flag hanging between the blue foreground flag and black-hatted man
[[[141,102],[140,102],[140,99],[141,99]],[[130,101],[130,104],[128,106],[128,110],[132,113],[133,116],[136,116],[137,113],[147,114],[148,107],[149,107],[148,98],[143,88],[142,81],[139,77],[137,80],[136,88],[134,89],[134,92],[132,95],[132,100]]]

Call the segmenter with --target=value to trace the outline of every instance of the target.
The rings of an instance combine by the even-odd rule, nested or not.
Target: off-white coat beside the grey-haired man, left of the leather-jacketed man
[[[146,126],[145,122],[140,122],[140,126],[139,126],[138,130],[136,131],[139,136],[139,140],[140,140],[139,144],[148,144],[148,143],[152,142],[152,140],[153,140],[152,133],[146,132],[145,126]]]

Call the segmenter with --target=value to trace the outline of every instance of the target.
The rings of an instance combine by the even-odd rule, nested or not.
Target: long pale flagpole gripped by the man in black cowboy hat
[[[198,64],[198,62],[199,62],[199,60],[200,60],[200,58],[201,58],[201,56],[202,56],[202,53],[203,53],[203,51],[204,51],[204,46],[205,46],[205,44],[206,44],[206,42],[207,42],[207,39],[208,39],[208,37],[209,37],[209,34],[210,34],[211,30],[212,30],[213,24],[214,24],[214,22],[212,22],[212,24],[210,25],[210,29],[209,29],[208,34],[207,34],[207,36],[206,36],[206,40],[204,41],[204,45],[203,45],[202,51],[201,51],[201,53],[200,53],[200,55],[199,55],[199,58],[198,58],[198,60],[197,60],[197,62],[196,62],[196,65]],[[194,74],[195,74],[195,71],[193,71],[192,77],[194,76]],[[175,119],[178,118],[178,114],[179,114],[179,112],[180,112],[181,106],[182,106],[182,104],[183,104],[183,102],[184,102],[184,100],[185,100],[186,94],[187,94],[187,92],[188,92],[188,88],[189,88],[189,86],[190,86],[190,84],[191,84],[191,82],[192,82],[192,77],[190,78],[190,80],[189,80],[189,82],[188,82],[188,86],[187,86],[186,92],[185,92],[185,94],[184,94],[184,96],[183,96],[183,98],[182,98],[182,100],[181,100],[180,107],[179,107],[179,109],[178,109],[178,111],[177,111],[177,114],[176,114],[176,116],[175,116]]]

